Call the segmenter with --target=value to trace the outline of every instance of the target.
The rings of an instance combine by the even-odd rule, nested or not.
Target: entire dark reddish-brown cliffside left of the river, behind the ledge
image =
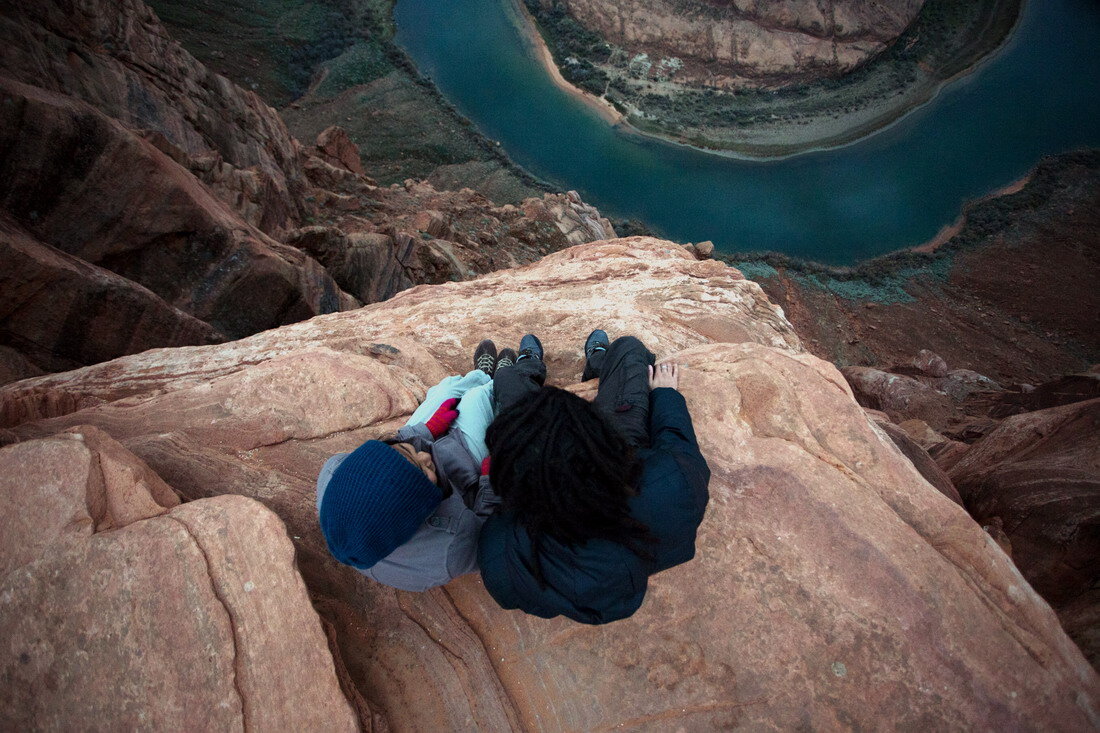
[[[316,228],[322,228],[318,232]],[[250,333],[614,236],[575,194],[495,207],[363,175],[138,0],[0,18],[0,375]]]

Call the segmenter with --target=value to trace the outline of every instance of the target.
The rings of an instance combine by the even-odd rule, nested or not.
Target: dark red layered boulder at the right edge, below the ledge
[[[1055,610],[1096,615],[1082,599],[1100,601],[1100,400],[1007,418],[949,475],[978,522],[1001,519],[1020,571]],[[1067,631],[1100,663],[1090,626]]]

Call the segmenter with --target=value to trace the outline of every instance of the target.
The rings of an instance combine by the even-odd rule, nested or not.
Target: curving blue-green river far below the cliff
[[[920,244],[1043,155],[1100,146],[1100,2],[1031,0],[1005,46],[854,144],[778,161],[615,129],[554,86],[509,0],[398,0],[421,73],[534,174],[676,241],[851,264]]]

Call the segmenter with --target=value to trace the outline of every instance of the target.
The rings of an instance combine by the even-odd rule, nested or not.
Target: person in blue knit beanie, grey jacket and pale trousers
[[[409,591],[477,570],[477,535],[498,504],[485,475],[492,378],[516,357],[482,341],[475,369],[431,387],[396,436],[324,463],[317,506],[336,559]]]

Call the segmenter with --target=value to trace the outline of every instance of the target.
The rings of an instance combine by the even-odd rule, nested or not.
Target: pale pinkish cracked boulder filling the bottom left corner
[[[294,547],[94,427],[0,450],[0,726],[355,730]]]

